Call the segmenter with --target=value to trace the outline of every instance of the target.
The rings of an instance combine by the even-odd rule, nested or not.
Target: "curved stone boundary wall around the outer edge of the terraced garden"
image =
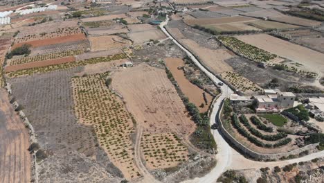
[[[231,143],[233,143],[237,148],[239,148],[240,150],[242,150],[244,153],[246,153],[247,155],[255,158],[255,159],[280,159],[280,157],[289,157],[289,155],[299,155],[300,153],[302,153],[305,150],[314,150],[314,148],[316,148],[316,146],[318,146],[318,143],[314,143],[314,144],[309,144],[307,146],[304,146],[303,148],[298,148],[295,150],[291,150],[287,153],[276,153],[276,154],[261,154],[261,153],[256,153],[253,150],[250,150],[249,148],[246,148],[242,143],[240,143],[239,141],[237,141],[229,132],[227,132],[227,130],[224,128],[223,123],[222,123],[222,119],[221,119],[221,113],[224,107],[224,101],[222,101],[222,107],[219,110],[219,112],[217,113],[217,121],[219,122],[219,130],[220,132],[222,132],[222,134],[224,135],[224,137],[226,137],[226,139],[228,139],[229,141],[231,141]]]

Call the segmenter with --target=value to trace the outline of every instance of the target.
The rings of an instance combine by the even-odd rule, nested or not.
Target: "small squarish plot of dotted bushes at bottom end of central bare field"
[[[141,149],[147,168],[169,168],[188,160],[188,149],[174,132],[143,134]]]

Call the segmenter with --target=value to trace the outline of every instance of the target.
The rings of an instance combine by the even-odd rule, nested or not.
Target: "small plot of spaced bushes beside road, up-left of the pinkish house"
[[[224,80],[230,82],[231,85],[233,85],[233,87],[235,87],[240,92],[246,94],[262,92],[261,87],[259,87],[251,80],[244,78],[244,76],[241,76],[239,73],[235,73],[233,71],[226,71],[224,73],[221,73],[221,76]]]

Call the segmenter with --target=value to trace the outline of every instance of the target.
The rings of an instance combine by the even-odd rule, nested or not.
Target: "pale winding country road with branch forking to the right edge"
[[[213,82],[218,83],[222,82],[219,80],[213,73],[208,71],[200,62],[195,58],[195,56],[188,51],[188,49],[184,48],[177,40],[168,33],[168,30],[165,29],[165,25],[168,24],[169,17],[167,16],[165,21],[161,22],[160,28],[167,35],[167,37],[170,38],[174,42],[174,44],[177,44],[181,50],[186,52],[188,57],[194,62],[197,67],[201,71],[203,71]],[[222,101],[233,94],[233,90],[228,87],[224,83],[222,87],[220,87],[222,94],[215,99],[215,102],[213,103],[213,110],[210,114],[210,125],[215,123],[217,121],[217,114],[219,114],[219,107],[222,105]],[[285,166],[287,164],[293,164],[293,163],[298,163],[298,162],[305,162],[305,161],[310,161],[314,158],[318,157],[324,157],[324,150],[318,153],[313,153],[311,155],[307,155],[305,157],[299,157],[296,159],[289,159],[285,161],[280,161],[280,162],[256,162],[251,159],[247,159],[243,155],[240,155],[236,150],[231,148],[231,146],[228,145],[228,143],[225,141],[225,139],[222,137],[221,134],[219,134],[218,130],[213,130],[213,136],[214,139],[217,143],[217,155],[215,156],[217,159],[217,164],[216,166],[204,177],[196,177],[194,180],[186,180],[183,181],[182,183],[193,183],[193,182],[199,182],[199,183],[211,183],[211,182],[217,182],[217,179],[224,171],[228,169],[233,169],[233,170],[242,170],[242,169],[259,169],[262,167],[274,167],[274,166]],[[234,161],[233,161],[234,160]]]

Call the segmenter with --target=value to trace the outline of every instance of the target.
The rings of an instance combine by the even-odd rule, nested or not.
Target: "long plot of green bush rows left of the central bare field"
[[[131,180],[141,176],[134,163],[131,139],[135,123],[123,101],[109,90],[108,76],[100,73],[72,78],[75,116],[80,123],[93,126],[100,147]]]

